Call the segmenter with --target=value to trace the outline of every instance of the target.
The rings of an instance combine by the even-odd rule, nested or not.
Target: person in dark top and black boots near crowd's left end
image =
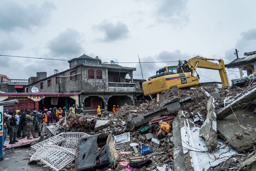
[[[10,115],[10,113],[12,114],[12,116],[9,117],[7,120],[7,127],[9,130],[9,136],[10,136],[9,144],[15,144],[15,142],[18,142],[18,140],[16,140],[16,136],[17,136],[16,121],[17,121],[17,119],[15,118],[15,112],[9,112],[8,114]]]

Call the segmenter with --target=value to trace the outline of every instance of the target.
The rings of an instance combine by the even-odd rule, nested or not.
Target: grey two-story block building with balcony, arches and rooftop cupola
[[[80,93],[79,102],[75,104],[89,113],[96,113],[98,105],[105,111],[111,111],[113,105],[134,105],[135,96],[142,94],[142,89],[136,88],[133,83],[133,71],[136,68],[103,63],[98,57],[92,58],[85,54],[68,63],[69,69],[63,72],[49,77],[42,72],[37,73],[37,77],[29,78],[24,91],[30,92],[32,87],[37,87],[38,93]],[[126,77],[129,77],[130,83],[126,83]],[[69,100],[72,99],[68,98],[62,100],[70,105]],[[51,106],[51,100],[51,97],[43,98],[39,107]]]

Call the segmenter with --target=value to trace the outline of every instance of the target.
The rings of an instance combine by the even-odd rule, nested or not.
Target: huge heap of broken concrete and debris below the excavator
[[[71,115],[62,124],[92,136],[78,141],[77,170],[246,170],[256,163],[255,92],[173,86],[159,101],[124,104],[101,118]]]

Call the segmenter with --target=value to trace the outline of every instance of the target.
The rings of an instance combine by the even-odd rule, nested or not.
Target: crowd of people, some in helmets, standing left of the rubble
[[[69,109],[66,109],[65,106],[63,108],[54,107],[49,110],[33,108],[32,112],[29,109],[25,112],[23,109],[16,111],[6,109],[4,111],[3,141],[5,142],[7,135],[10,137],[10,144],[18,142],[18,138],[31,140],[31,135],[33,138],[38,138],[42,133],[46,133],[48,123],[56,123],[62,117],[76,114],[78,111],[74,104]],[[38,133],[38,136],[35,133]]]

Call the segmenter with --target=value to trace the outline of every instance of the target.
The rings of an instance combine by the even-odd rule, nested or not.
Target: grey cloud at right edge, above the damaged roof
[[[256,44],[256,29],[250,29],[248,31],[242,32],[239,39],[237,40],[234,48],[225,51],[225,61],[229,63],[236,59],[234,54],[235,49],[238,49],[239,57],[243,57],[245,52],[255,51]]]

